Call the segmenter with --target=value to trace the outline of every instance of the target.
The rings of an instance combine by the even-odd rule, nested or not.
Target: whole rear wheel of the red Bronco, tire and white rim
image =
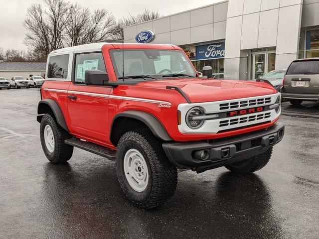
[[[71,135],[66,132],[55,119],[45,114],[40,124],[40,139],[42,149],[47,159],[52,163],[68,161],[73,154],[73,146],[64,143]]]

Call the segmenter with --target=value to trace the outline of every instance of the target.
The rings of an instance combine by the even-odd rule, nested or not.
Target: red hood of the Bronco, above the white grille
[[[151,88],[179,87],[192,103],[223,101],[277,93],[265,82],[207,80],[200,78],[179,78],[140,82],[137,86]]]

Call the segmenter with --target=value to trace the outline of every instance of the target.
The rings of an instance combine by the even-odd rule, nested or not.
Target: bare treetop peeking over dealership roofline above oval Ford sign
[[[157,10],[145,9],[144,12],[137,15],[129,15],[128,17],[123,17],[118,20],[117,24],[113,28],[113,39],[122,40],[124,38],[123,28],[126,26],[131,26],[137,23],[142,23],[149,20],[154,20],[160,17],[160,13]]]

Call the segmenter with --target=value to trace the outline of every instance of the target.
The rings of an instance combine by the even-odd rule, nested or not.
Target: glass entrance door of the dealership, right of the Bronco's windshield
[[[276,53],[275,52],[258,52],[252,54],[252,79],[259,79],[266,73],[275,70]]]

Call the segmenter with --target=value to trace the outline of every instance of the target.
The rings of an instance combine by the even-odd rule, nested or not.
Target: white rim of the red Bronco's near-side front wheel
[[[124,156],[124,173],[130,186],[143,192],[149,183],[149,170],[146,161],[137,149],[130,149]]]

